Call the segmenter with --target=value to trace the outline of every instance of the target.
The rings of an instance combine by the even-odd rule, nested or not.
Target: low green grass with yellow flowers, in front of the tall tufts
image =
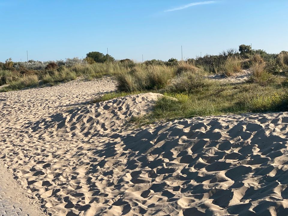
[[[153,122],[195,116],[217,116],[223,114],[241,114],[247,112],[268,112],[288,110],[288,92],[284,82],[273,82],[269,85],[258,83],[240,83],[236,85],[221,84],[210,81],[205,88],[194,88],[193,91],[161,92],[151,113],[131,119],[133,125],[141,126]],[[97,98],[94,102],[148,91],[113,92]],[[175,100],[176,98],[176,100]]]

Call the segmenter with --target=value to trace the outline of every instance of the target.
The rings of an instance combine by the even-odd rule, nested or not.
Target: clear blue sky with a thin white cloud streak
[[[0,61],[195,58],[252,44],[288,50],[287,0],[0,0]],[[181,53],[182,46],[182,53]]]

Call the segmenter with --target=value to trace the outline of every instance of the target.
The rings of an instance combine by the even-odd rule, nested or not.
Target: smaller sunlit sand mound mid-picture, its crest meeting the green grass
[[[121,126],[133,116],[151,111],[154,102],[163,95],[145,93],[114,98],[85,107],[77,107],[66,113],[58,113],[23,127],[38,139],[58,137],[97,137],[103,133],[121,130]]]

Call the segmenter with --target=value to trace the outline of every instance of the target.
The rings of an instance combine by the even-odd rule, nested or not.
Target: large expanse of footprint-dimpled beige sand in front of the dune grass
[[[288,113],[124,127],[160,94],[93,81],[0,94],[0,161],[51,215],[288,215]]]

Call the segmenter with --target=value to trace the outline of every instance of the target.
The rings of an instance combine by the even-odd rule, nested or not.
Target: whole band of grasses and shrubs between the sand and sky
[[[93,102],[151,91],[163,94],[152,113],[133,119],[140,125],[162,119],[288,108],[288,52],[268,54],[243,44],[239,46],[239,52],[228,49],[219,55],[207,54],[185,61],[170,58],[168,61],[153,59],[137,63],[131,59],[116,61],[110,55],[89,52],[84,59],[45,64],[39,61],[20,64],[7,59],[0,67],[0,85],[4,85],[0,91],[55,85],[77,77],[93,79],[109,75],[117,80],[118,91],[102,95]],[[222,73],[229,77],[242,69],[251,72],[247,82],[223,83],[207,76]]]

